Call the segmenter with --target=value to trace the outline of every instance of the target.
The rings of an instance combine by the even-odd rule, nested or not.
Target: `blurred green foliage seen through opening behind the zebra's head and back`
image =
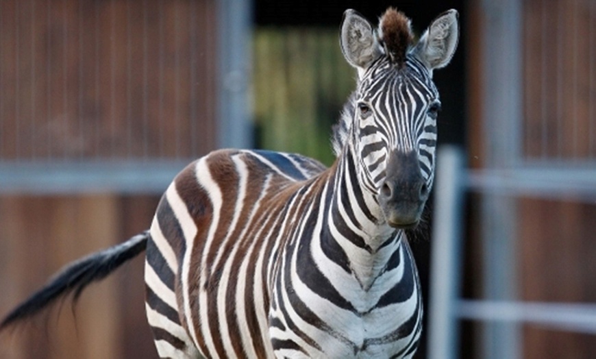
[[[338,30],[258,28],[253,49],[258,147],[331,164],[332,125],[356,77],[341,53]]]

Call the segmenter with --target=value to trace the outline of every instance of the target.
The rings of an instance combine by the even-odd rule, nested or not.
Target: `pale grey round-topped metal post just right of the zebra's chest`
[[[460,295],[464,156],[452,146],[437,153],[430,275],[429,359],[456,359]]]

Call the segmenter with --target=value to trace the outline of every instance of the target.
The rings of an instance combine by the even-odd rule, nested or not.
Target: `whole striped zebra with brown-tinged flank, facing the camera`
[[[432,73],[458,34],[456,10],[415,43],[395,8],[378,27],[347,10],[340,48],[358,75],[330,168],[293,153],[213,151],[175,177],[148,231],[73,262],[1,327],[146,251],[161,358],[411,358],[423,308],[406,230],[434,179]]]

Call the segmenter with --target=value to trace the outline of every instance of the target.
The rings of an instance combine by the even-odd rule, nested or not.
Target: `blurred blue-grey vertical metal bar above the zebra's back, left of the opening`
[[[218,0],[219,147],[253,147],[248,106],[251,74],[252,1]]]

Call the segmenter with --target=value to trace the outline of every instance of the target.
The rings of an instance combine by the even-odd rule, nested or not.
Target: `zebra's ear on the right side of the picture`
[[[458,12],[451,9],[440,14],[422,34],[414,55],[432,71],[447,66],[458,47],[460,30]]]

